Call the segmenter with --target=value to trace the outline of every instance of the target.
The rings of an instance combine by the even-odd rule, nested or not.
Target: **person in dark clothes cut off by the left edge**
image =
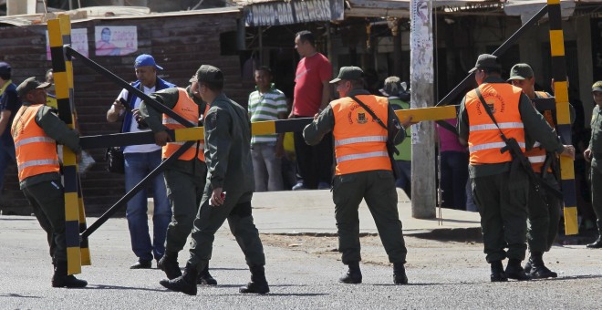
[[[16,85],[11,80],[11,67],[0,62],[0,192],[4,187],[6,167],[15,162],[15,142],[8,129],[13,123],[21,100],[16,94]]]

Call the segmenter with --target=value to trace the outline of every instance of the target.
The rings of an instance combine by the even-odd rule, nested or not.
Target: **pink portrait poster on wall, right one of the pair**
[[[124,56],[138,50],[136,26],[95,26],[96,56]]]

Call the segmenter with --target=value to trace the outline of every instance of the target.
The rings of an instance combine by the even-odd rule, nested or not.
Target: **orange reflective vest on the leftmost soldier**
[[[37,111],[43,106],[22,106],[11,126],[19,181],[37,174],[59,171],[57,142],[36,123]]]

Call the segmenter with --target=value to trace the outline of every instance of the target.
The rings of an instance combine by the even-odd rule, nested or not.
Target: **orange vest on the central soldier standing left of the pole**
[[[360,95],[374,114],[387,125],[389,101],[387,98],[372,95]],[[386,129],[383,129],[352,98],[340,98],[330,102],[335,115],[335,156],[336,174],[348,174],[360,171],[391,170],[387,152]]]

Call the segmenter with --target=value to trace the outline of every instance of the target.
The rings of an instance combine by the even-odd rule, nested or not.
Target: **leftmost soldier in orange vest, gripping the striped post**
[[[65,192],[60,180],[57,143],[80,153],[79,135],[67,128],[53,110],[46,106],[48,83],[27,78],[16,92],[23,106],[16,112],[11,126],[15,140],[19,187],[47,233],[50,256],[55,265],[53,287],[84,287],[88,283],[67,275],[65,235]]]

